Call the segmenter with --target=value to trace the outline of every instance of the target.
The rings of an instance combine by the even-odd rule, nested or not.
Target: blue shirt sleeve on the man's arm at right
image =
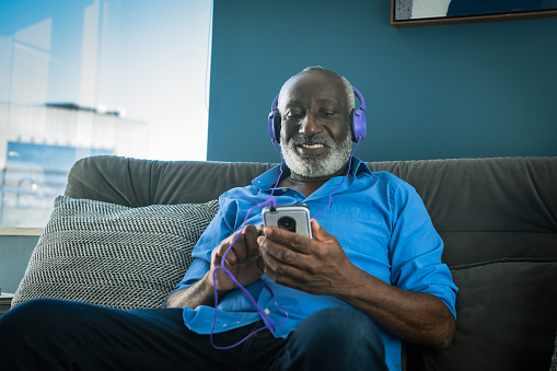
[[[401,183],[392,195],[393,233],[390,242],[392,282],[441,299],[454,317],[456,291],[449,267],[441,262],[443,241],[414,187]]]

